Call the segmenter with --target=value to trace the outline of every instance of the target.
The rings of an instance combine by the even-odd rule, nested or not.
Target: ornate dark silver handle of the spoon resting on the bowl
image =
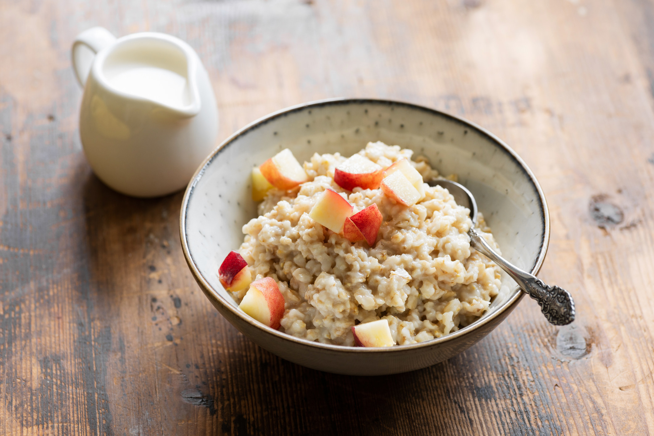
[[[574,321],[574,301],[568,291],[559,286],[547,286],[540,278],[506,261],[490,248],[490,245],[474,227],[468,231],[468,235],[470,235],[472,246],[477,251],[500,265],[523,291],[538,301],[541,311],[551,324],[565,326]]]

